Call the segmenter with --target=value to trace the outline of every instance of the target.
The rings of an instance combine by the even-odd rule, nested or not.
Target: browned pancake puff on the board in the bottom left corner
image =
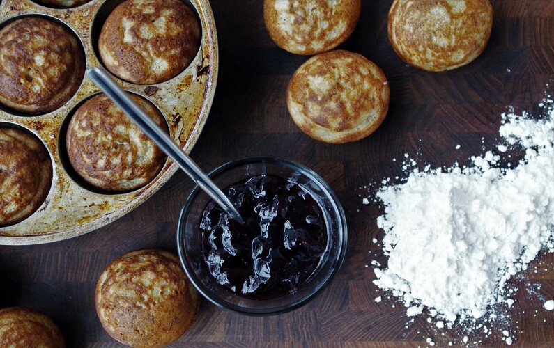
[[[65,346],[58,326],[43,313],[24,307],[0,310],[0,347]]]

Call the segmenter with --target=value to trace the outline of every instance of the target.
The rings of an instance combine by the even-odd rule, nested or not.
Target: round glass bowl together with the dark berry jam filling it
[[[244,223],[201,189],[192,191],[177,244],[199,292],[249,315],[284,313],[321,292],[341,266],[347,237],[328,184],[305,166],[272,157],[231,161],[209,175]]]

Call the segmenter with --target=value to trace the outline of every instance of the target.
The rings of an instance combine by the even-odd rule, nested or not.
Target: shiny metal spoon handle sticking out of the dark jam
[[[154,143],[175,161],[187,175],[224,211],[238,223],[244,223],[236,207],[231,203],[225,193],[204,173],[201,168],[181,149],[169,136],[156,125],[146,113],[134,103],[123,89],[121,89],[103,68],[91,68],[86,72],[87,76],[116,104],[125,115],[148,136]]]

